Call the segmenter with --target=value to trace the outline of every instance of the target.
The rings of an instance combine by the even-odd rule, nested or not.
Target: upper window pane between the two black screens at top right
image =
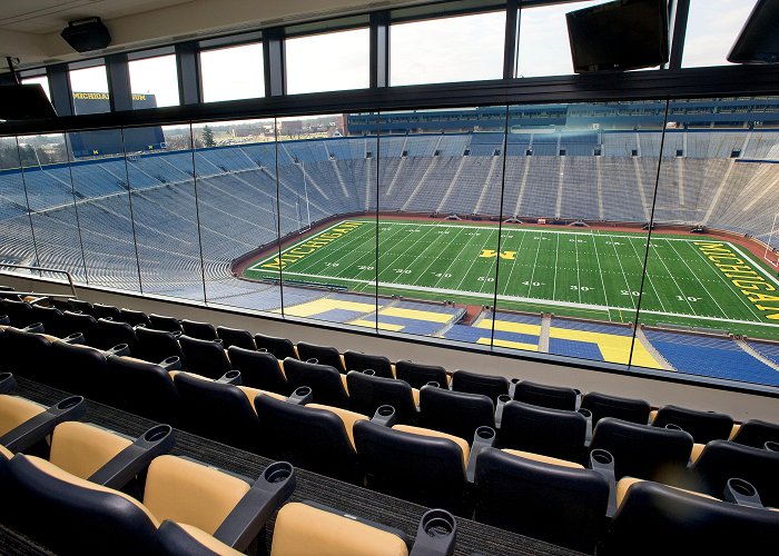
[[[757,0],[691,0],[683,68],[724,66]]]

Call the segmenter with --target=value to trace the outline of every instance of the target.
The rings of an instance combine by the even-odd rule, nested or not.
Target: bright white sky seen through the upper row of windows
[[[682,66],[727,63],[728,51],[756,1],[691,0]],[[524,9],[517,76],[572,73],[565,13],[601,3],[605,0]],[[391,85],[501,78],[504,27],[503,12],[392,26]],[[288,92],[367,88],[368,52],[367,29],[287,39]],[[265,93],[262,44],[207,51],[200,63],[206,102]],[[71,83],[75,92],[108,90],[103,67],[72,71]],[[154,93],[159,107],[179,102],[172,54],[130,62],[130,83],[135,93]]]

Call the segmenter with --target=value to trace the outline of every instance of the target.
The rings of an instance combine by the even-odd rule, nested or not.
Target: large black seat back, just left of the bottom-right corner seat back
[[[592,554],[605,520],[609,483],[575,469],[487,448],[476,460],[480,523]]]

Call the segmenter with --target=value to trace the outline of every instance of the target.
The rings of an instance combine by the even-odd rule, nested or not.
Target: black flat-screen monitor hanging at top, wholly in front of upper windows
[[[573,71],[625,71],[668,62],[665,0],[617,0],[565,14]]]

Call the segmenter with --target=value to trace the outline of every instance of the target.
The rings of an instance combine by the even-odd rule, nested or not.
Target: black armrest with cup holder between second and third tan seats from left
[[[167,454],[175,443],[170,425],[151,427],[95,471],[89,480],[109,488],[121,488],[146,469],[154,458]]]

